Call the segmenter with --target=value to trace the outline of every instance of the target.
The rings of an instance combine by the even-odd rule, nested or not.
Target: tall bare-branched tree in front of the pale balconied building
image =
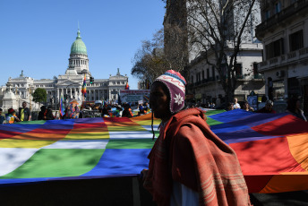
[[[219,74],[227,101],[234,98],[237,56],[244,41],[253,41],[260,22],[258,0],[167,0],[169,24],[187,33],[189,61],[202,56]],[[173,7],[184,7],[172,13]],[[166,46],[165,46],[166,47]]]

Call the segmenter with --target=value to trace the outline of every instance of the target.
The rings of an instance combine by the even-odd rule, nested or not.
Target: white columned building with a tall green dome
[[[81,88],[83,84],[84,75],[87,79],[87,95],[83,99]],[[81,32],[78,29],[77,37],[73,41],[71,47],[70,58],[68,59],[68,67],[62,75],[54,76],[53,79],[34,80],[31,77],[24,76],[23,71],[17,78],[9,78],[7,85],[10,88],[2,88],[2,90],[12,90],[20,97],[19,102],[30,102],[30,88],[36,90],[43,88],[47,90],[48,104],[59,105],[61,96],[68,95],[68,100],[77,99],[78,101],[94,101],[94,100],[109,100],[116,101],[118,99],[119,90],[124,90],[126,82],[128,82],[127,75],[122,75],[117,69],[116,75],[109,74],[106,79],[98,79],[90,84],[90,77],[92,77],[89,69],[89,57],[87,47],[81,39]],[[35,104],[31,103],[32,107]],[[3,107],[5,107],[3,105]],[[21,105],[19,106],[21,107]]]

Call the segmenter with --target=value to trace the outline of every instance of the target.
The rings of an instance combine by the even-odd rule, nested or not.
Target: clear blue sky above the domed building
[[[87,47],[95,79],[127,74],[141,41],[163,27],[161,0],[0,0],[0,86],[21,74],[53,79],[64,74],[77,37]]]

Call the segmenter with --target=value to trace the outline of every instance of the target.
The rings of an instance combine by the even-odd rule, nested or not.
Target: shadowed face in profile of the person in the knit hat
[[[169,110],[170,97],[166,90],[166,87],[161,82],[155,82],[150,90],[150,107],[154,116],[161,120],[168,120],[171,116]]]

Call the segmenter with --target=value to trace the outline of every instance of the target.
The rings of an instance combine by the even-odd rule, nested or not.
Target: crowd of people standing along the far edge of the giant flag
[[[216,108],[214,103],[207,104],[193,104],[191,102],[185,102],[186,107],[203,107],[203,108]],[[270,99],[262,98],[261,103],[259,103],[260,109],[254,109],[249,105],[248,101],[244,101],[243,104],[240,104],[238,100],[235,98],[234,101],[228,102],[226,106],[226,110],[233,109],[244,109],[249,112],[256,113],[271,113],[275,114],[276,111],[273,109],[274,103]],[[304,111],[301,109],[302,103],[300,99],[291,98],[287,100],[287,109],[286,112],[296,116],[298,118],[307,121],[304,116]],[[133,116],[142,116],[150,113],[150,105],[148,102],[142,102],[138,105],[136,114],[133,114],[133,109],[130,103],[125,102],[123,105],[115,104],[103,104],[103,102],[99,102],[94,104],[93,106],[83,106],[79,107],[79,103],[76,99],[73,99],[67,107],[64,109],[64,116],[58,116],[53,114],[53,110],[51,106],[42,106],[40,107],[38,120],[54,120],[54,119],[74,119],[74,118],[82,118],[84,116],[85,110],[98,111],[100,116],[102,117],[133,117]],[[18,109],[18,113],[13,108],[9,108],[7,110],[7,114],[5,116],[2,115],[3,109],[0,108],[0,124],[13,124],[15,122],[21,121],[30,121],[31,113],[30,108],[27,107],[27,102],[22,102],[22,107]]]

